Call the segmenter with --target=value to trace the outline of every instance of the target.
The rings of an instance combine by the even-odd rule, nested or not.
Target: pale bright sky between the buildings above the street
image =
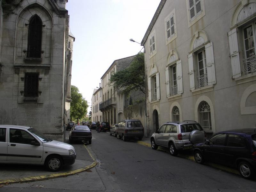
[[[160,0],[69,0],[75,36],[71,84],[91,105],[93,89],[114,60],[137,54]],[[89,112],[88,108],[88,112]]]

